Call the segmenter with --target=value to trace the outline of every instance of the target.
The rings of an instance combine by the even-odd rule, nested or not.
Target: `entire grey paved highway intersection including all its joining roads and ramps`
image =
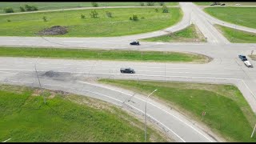
[[[185,64],[2,57],[0,58],[0,82],[39,87],[34,70],[36,65],[43,88],[99,98],[140,116],[144,114],[145,96],[115,86],[99,84],[95,82],[95,79],[122,78],[234,84],[238,86],[238,89],[256,113],[256,70],[247,68],[238,58],[238,54],[248,55],[251,50],[256,50],[256,44],[230,43],[216,30],[214,24],[231,28],[234,28],[234,24],[210,17],[191,2],[180,2],[180,6],[183,11],[182,21],[166,30],[110,38],[0,37],[0,45],[65,47],[70,49],[179,51],[205,54],[213,58],[211,62]],[[207,42],[140,42],[141,46],[129,45],[134,40],[182,30],[192,23],[202,31],[202,34],[207,38]],[[236,26],[236,29],[256,32],[255,29],[244,26]],[[255,61],[249,60],[253,66],[256,66]],[[119,70],[122,66],[134,68],[136,74],[121,74]],[[56,73],[54,77],[45,75],[50,70]],[[166,134],[170,134],[170,137],[177,142],[224,141],[208,130],[206,126],[203,126],[202,123],[187,118],[178,110],[174,110],[156,99],[150,99],[147,110],[151,121],[165,130]]]

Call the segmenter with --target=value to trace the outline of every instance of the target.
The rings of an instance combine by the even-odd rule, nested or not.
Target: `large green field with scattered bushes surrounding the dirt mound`
[[[38,36],[40,30],[51,26],[66,26],[68,33],[59,37],[110,37],[140,34],[173,26],[182,19],[182,10],[168,8],[170,13],[155,12],[154,8],[107,9],[113,18],[106,17],[106,10],[99,9],[98,18],[90,18],[91,10],[68,10],[36,14],[13,14],[0,16],[0,35]],[[86,18],[81,18],[84,14]],[[138,21],[131,21],[133,14]],[[46,16],[48,22],[43,21]],[[144,17],[144,18],[142,18]],[[7,22],[10,20],[10,22]]]

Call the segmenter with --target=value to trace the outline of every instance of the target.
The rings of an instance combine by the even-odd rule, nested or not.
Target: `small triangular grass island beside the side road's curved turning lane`
[[[147,42],[206,42],[206,38],[202,35],[194,24],[184,30],[179,30],[173,34],[163,35],[154,38],[145,38],[142,41]]]

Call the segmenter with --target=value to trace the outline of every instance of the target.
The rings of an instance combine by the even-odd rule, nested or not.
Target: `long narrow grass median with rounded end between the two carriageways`
[[[0,56],[32,58],[78,58],[116,61],[146,62],[210,62],[210,58],[201,54],[188,54],[162,51],[134,50],[85,50],[0,47]]]

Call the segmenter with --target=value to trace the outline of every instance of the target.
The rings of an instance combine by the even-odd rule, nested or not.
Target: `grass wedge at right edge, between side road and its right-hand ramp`
[[[230,41],[234,43],[256,43],[256,34],[242,30],[235,30],[230,27],[215,25],[218,30]]]

